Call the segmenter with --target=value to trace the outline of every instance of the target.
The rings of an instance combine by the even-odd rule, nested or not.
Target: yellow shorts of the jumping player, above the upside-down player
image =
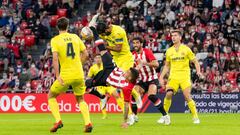
[[[123,71],[127,71],[134,65],[133,58],[129,56],[121,56],[119,58],[114,58],[116,65],[121,68]]]

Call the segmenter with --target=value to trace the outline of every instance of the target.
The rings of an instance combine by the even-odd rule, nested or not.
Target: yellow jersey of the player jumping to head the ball
[[[127,39],[127,34],[122,27],[117,25],[112,25],[111,34],[108,36],[100,35],[100,38],[106,40],[109,46],[115,46],[117,44],[122,45],[122,50],[120,52],[110,51],[114,61],[116,61],[116,58],[121,56],[128,55],[132,57],[132,53],[130,51],[130,46]]]

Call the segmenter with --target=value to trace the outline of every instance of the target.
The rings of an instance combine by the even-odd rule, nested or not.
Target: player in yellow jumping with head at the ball
[[[122,70],[127,71],[134,65],[134,59],[130,51],[127,34],[123,28],[118,25],[113,25],[110,21],[106,20],[99,21],[96,30],[99,37],[107,42],[106,48],[110,51],[116,65]],[[136,100],[138,108],[141,108],[141,97],[135,89],[133,89],[132,95]],[[129,125],[134,123],[134,115],[129,116],[128,123]]]

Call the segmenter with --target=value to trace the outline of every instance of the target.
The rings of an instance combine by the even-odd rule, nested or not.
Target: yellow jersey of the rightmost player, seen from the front
[[[189,61],[195,59],[192,50],[181,44],[178,50],[174,46],[167,49],[166,61],[170,63],[169,79],[190,79]]]

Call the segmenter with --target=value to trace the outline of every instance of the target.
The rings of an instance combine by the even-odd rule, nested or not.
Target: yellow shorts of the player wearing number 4
[[[51,92],[56,94],[63,93],[68,90],[69,86],[72,86],[74,95],[81,96],[85,93],[86,86],[84,79],[63,80],[63,82],[64,86],[62,86],[58,80],[55,80],[50,88]]]

